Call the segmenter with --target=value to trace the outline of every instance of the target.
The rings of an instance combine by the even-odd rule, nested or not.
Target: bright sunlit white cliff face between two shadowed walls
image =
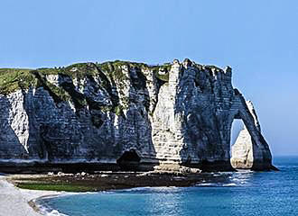
[[[158,94],[153,118],[153,141],[157,159],[164,163],[179,163],[182,161],[182,120],[175,113],[175,103],[182,70],[177,60],[169,73],[169,83],[163,84]]]

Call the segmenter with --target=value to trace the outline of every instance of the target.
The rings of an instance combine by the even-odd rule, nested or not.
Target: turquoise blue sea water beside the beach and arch
[[[276,157],[280,172],[219,173],[187,188],[135,188],[42,200],[48,210],[77,215],[298,215],[298,157]],[[52,211],[54,213],[57,211]]]

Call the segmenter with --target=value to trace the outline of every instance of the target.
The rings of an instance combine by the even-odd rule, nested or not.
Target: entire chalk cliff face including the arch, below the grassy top
[[[0,94],[2,164],[116,164],[133,150],[146,168],[271,168],[256,112],[231,85],[230,67],[185,59],[158,68],[125,62],[88,63],[84,69],[92,74],[34,71],[42,85]],[[246,129],[230,160],[234,119],[242,119]]]

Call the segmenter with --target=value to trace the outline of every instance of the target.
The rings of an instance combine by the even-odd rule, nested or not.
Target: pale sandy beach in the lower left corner
[[[5,180],[0,174],[0,216],[40,216],[28,202],[47,195],[59,195],[51,191],[33,191],[19,189]]]

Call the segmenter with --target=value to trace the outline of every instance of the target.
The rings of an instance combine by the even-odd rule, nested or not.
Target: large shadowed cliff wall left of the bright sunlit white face
[[[149,117],[150,98],[146,77],[139,68],[135,68],[136,76],[129,72],[129,107],[126,114],[121,111],[119,115],[115,110],[119,105],[118,89],[99,69],[99,83],[89,76],[89,87],[97,93],[103,87],[99,85],[105,83],[104,87],[114,107],[110,114],[102,111],[101,103],[77,91],[72,82],[61,85],[74,102],[75,109],[71,109],[69,103],[61,100],[60,95],[52,91],[38,72],[34,75],[40,86],[34,90],[30,88],[22,91],[23,109],[29,121],[28,152],[24,150],[14,130],[8,127],[8,118],[4,118],[6,122],[2,124],[9,128],[8,131],[5,130],[7,133],[13,134],[10,135],[13,140],[5,140],[3,143],[13,143],[16,146],[15,159],[22,158],[28,162],[36,160],[31,164],[19,164],[22,170],[93,172],[153,169],[157,162],[154,160],[156,152]],[[9,103],[5,97],[2,100]],[[81,106],[82,101],[87,104]],[[3,113],[9,113],[9,109]],[[114,125],[116,119],[119,123],[117,126]],[[2,140],[4,139],[0,141]],[[5,154],[11,157],[11,146],[7,151],[1,146],[0,157],[4,158]],[[15,172],[19,171],[15,169]]]

